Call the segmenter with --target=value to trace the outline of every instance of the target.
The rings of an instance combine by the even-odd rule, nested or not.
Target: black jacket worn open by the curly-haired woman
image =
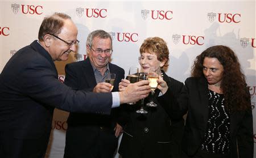
[[[238,89],[239,90],[239,89]],[[171,100],[170,100],[171,101]],[[188,78],[179,97],[179,112],[188,111],[182,148],[187,155],[194,155],[203,141],[208,121],[208,83],[205,78]],[[181,112],[181,113],[180,113]],[[253,157],[253,116],[251,110],[231,114],[230,157]]]

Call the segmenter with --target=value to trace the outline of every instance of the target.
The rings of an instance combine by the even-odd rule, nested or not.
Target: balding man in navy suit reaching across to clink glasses
[[[44,18],[38,38],[16,52],[0,75],[0,157],[44,157],[54,108],[110,114],[150,92],[150,86],[141,86],[148,82],[133,84],[126,93],[75,91],[60,83],[53,61],[66,61],[79,42],[68,15]]]

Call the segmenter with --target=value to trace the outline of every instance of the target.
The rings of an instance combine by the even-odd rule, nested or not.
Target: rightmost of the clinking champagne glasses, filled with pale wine
[[[158,87],[158,76],[160,75],[160,67],[158,70],[155,70],[154,68],[150,68],[150,71],[148,72],[148,80],[150,82],[150,87],[151,87],[151,100],[150,103],[147,103],[147,106],[155,107],[158,106],[158,104],[154,103],[154,94],[155,94],[155,89]]]

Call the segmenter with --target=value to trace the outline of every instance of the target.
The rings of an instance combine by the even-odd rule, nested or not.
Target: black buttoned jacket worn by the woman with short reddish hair
[[[172,91],[172,94],[177,98],[183,83],[168,77],[164,71],[162,72],[168,89],[171,89],[168,91]],[[159,89],[156,89],[155,96],[158,96],[159,92]],[[164,102],[168,99],[170,99],[168,93],[157,97],[155,103],[158,106],[156,107],[146,106],[149,101],[145,99],[144,109],[147,110],[147,114],[136,113],[136,110],[141,108],[141,102],[138,102],[137,105],[121,106],[129,116],[124,126],[118,151],[123,157],[170,157],[171,155],[174,156],[172,151],[180,150],[179,144],[181,143],[184,121],[182,116],[179,119],[171,119],[171,104]],[[141,153],[143,156],[139,156]]]

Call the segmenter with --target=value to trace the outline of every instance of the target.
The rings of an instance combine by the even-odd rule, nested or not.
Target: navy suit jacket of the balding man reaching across
[[[60,83],[55,64],[49,53],[37,42],[25,46],[16,52],[7,62],[0,75],[0,157],[7,141],[1,138],[31,139],[31,146],[45,144],[36,141],[51,130],[54,108],[69,112],[110,114],[112,106],[111,93],[88,93],[74,91]],[[1,137],[1,133],[5,133]],[[21,147],[20,147],[21,146]],[[30,157],[23,151],[24,145],[13,144],[6,154],[22,152],[17,157]],[[43,153],[43,154],[44,154]]]

